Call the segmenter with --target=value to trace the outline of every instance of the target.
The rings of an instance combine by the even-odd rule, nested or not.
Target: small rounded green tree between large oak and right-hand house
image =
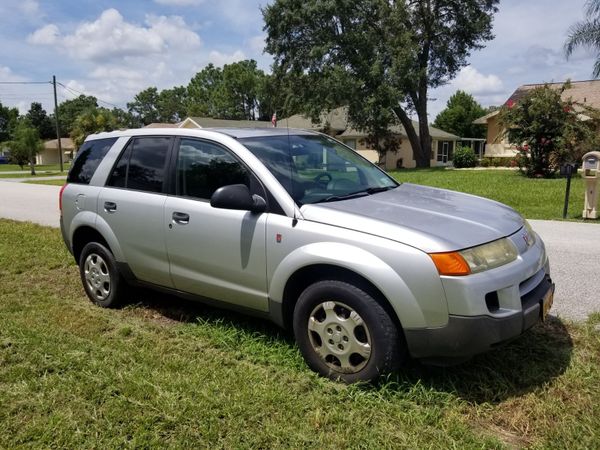
[[[437,115],[433,126],[464,138],[483,138],[485,127],[474,125],[473,121],[486,114],[472,95],[459,90],[450,97],[446,109]]]

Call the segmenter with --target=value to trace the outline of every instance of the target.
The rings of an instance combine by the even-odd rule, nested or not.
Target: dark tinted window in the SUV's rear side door
[[[133,139],[117,161],[107,186],[162,192],[170,144],[168,137]]]

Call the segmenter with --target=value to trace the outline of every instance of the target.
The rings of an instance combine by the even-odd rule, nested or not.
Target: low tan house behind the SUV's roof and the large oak
[[[418,131],[418,122],[413,122],[413,125]],[[208,117],[188,117],[177,124],[152,123],[147,125],[146,128],[271,128],[272,126],[273,124],[271,122],[261,120],[225,120],[211,119]],[[348,123],[346,108],[337,108],[321,114],[320,121],[317,123],[313,122],[309,117],[296,114],[280,119],[278,121],[278,126],[326,133],[353,148],[369,161],[380,164],[387,170],[416,166],[412,147],[402,125],[394,125],[391,128],[392,133],[396,139],[398,139],[398,150],[396,152],[387,152],[383,161],[380,161],[377,151],[367,145],[367,133],[353,129]],[[460,144],[461,139],[458,136],[446,133],[445,131],[434,127],[429,127],[429,133],[433,140],[431,165],[450,165],[452,163],[454,149]]]

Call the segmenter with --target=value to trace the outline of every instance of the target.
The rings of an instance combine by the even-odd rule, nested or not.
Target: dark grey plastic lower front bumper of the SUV
[[[441,328],[404,330],[408,350],[413,358],[431,363],[452,364],[488,351],[510,341],[542,319],[542,301],[554,291],[549,276],[521,298],[522,310],[510,316],[450,315]]]

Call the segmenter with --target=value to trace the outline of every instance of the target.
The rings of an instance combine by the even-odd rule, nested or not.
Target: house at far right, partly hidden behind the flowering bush
[[[560,89],[562,83],[547,83],[553,89]],[[529,91],[544,84],[525,84],[517,88],[515,92],[506,100],[505,105],[518,103]],[[588,105],[592,108],[600,109],[600,80],[571,81],[571,88],[562,93],[563,100],[569,98],[577,103]],[[518,151],[514,145],[509,144],[505,138],[505,129],[500,124],[500,110],[493,111],[473,123],[487,126],[485,156],[489,157],[513,157]],[[581,115],[582,119],[586,119]]]

